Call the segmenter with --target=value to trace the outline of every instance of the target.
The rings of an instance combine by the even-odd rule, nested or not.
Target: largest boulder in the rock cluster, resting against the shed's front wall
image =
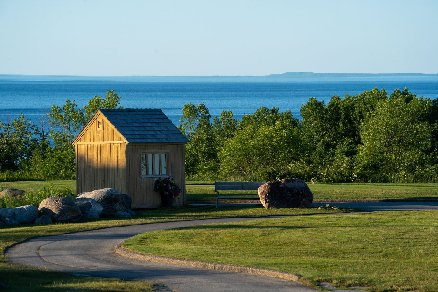
[[[123,197],[123,193],[120,193],[115,189],[100,189],[93,190],[88,193],[83,193],[78,198],[92,198],[101,204],[104,211],[108,213],[115,213],[118,211],[124,212],[126,210],[126,203]]]

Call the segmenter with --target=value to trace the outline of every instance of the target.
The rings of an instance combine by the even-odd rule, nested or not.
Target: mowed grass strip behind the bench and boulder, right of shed
[[[307,183],[314,200],[438,199],[438,183]],[[187,182],[187,201],[215,200],[214,182]],[[257,190],[219,190],[223,196],[257,195]]]

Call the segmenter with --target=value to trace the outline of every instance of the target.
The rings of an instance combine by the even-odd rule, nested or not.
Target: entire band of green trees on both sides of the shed
[[[71,141],[97,109],[119,104],[111,90],[82,109],[53,105],[39,125],[23,115],[0,123],[0,181],[74,179]],[[225,110],[212,119],[204,103],[185,104],[178,128],[189,140],[187,179],[438,181],[438,99],[373,88],[327,104],[312,97],[300,113],[260,107],[241,121]]]

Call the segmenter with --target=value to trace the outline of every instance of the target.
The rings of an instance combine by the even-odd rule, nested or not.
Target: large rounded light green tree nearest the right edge
[[[395,91],[378,102],[364,120],[358,160],[371,180],[406,180],[417,167],[427,163],[432,127],[424,118],[430,99]]]

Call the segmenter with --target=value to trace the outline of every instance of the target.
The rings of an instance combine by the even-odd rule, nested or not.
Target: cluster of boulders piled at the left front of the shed
[[[26,205],[0,209],[0,226],[81,222],[105,217],[138,215],[131,210],[131,202],[131,196],[110,188],[81,193],[74,200],[66,197],[50,197],[44,199],[38,208]]]

